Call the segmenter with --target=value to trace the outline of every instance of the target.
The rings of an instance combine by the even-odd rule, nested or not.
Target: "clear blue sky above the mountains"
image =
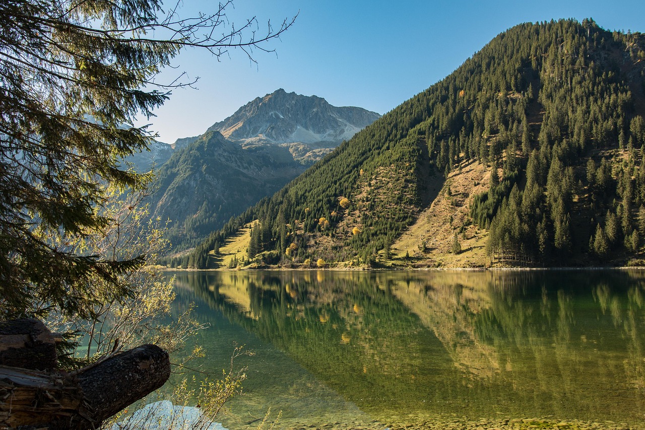
[[[184,0],[183,15],[208,12],[213,0]],[[174,90],[158,108],[151,130],[159,140],[202,134],[255,97],[277,88],[324,97],[335,106],[384,114],[446,77],[490,39],[525,22],[585,17],[608,30],[645,32],[644,0],[378,1],[235,0],[228,19],[257,16],[261,28],[299,14],[281,39],[256,52],[221,61],[186,50],[164,72],[199,76],[198,89]],[[141,124],[139,124],[141,125]]]

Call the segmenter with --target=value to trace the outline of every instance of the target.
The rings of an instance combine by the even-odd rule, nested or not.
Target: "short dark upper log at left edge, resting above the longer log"
[[[0,365],[55,369],[58,363],[54,335],[34,318],[0,321]]]

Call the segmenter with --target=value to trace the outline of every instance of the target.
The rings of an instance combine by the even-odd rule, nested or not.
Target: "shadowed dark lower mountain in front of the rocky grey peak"
[[[152,214],[172,221],[175,250],[189,247],[303,170],[285,148],[244,149],[206,132],[158,170]]]

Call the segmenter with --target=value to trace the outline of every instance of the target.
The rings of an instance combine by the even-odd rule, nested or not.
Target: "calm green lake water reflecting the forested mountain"
[[[197,365],[255,356],[229,429],[550,417],[645,423],[645,272],[176,272]],[[255,422],[253,425],[257,425]]]

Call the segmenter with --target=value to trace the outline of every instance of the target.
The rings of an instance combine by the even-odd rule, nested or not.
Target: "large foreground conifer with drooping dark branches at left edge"
[[[150,135],[128,124],[192,83],[155,83],[182,48],[251,54],[293,22],[260,36],[255,20],[227,27],[228,5],[182,19],[163,15],[161,0],[0,2],[0,318],[52,309],[91,318],[95,302],[129,294],[119,274],[143,258],[52,243],[101,231],[108,185],[144,186],[122,159]],[[111,287],[96,294],[93,278]]]

